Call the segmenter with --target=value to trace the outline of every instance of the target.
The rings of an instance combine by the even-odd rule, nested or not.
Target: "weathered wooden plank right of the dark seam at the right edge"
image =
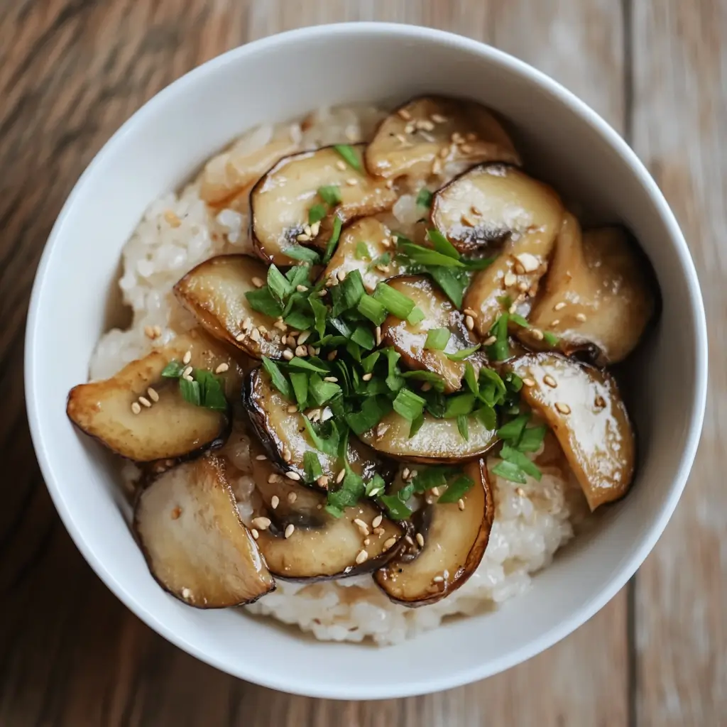
[[[710,396],[696,465],[638,576],[638,724],[725,725],[727,7],[639,0],[632,25],[633,143],[682,225],[710,333]]]

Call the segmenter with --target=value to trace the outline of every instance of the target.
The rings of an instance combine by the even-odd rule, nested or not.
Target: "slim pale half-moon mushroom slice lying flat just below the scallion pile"
[[[465,462],[481,457],[497,442],[494,430],[475,416],[468,417],[469,439],[457,428],[457,419],[436,419],[425,413],[424,423],[413,437],[411,424],[395,411],[387,414],[375,427],[361,435],[361,441],[387,457],[407,462],[436,464]]]

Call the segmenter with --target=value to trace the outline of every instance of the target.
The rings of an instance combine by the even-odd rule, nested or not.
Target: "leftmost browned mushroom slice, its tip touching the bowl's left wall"
[[[68,417],[109,449],[137,462],[192,457],[222,446],[230,431],[228,411],[185,401],[178,380],[161,376],[166,364],[181,363],[188,351],[190,366],[214,371],[226,364],[228,373],[222,377],[241,379],[241,370],[220,344],[201,334],[180,336],[127,364],[111,379],[73,387]]]

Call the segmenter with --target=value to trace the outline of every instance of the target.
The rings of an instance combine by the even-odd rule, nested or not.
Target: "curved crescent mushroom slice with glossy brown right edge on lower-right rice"
[[[458,502],[425,505],[414,513],[415,542],[374,574],[395,603],[426,606],[453,593],[475,572],[485,553],[494,519],[494,501],[483,459],[465,467],[474,485]]]

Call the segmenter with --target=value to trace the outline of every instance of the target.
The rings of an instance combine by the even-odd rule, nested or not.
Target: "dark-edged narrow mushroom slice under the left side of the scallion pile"
[[[297,411],[272,385],[270,377],[262,369],[254,369],[246,377],[243,403],[265,451],[278,467],[292,478],[302,479],[305,476],[305,453],[313,452],[321,462],[324,476],[333,484],[343,468],[342,460],[316,448],[303,421],[305,414]],[[327,413],[330,414],[330,411]],[[348,443],[347,459],[351,469],[364,480],[369,480],[377,472],[385,479],[388,477],[388,467],[369,447],[354,438]]]

